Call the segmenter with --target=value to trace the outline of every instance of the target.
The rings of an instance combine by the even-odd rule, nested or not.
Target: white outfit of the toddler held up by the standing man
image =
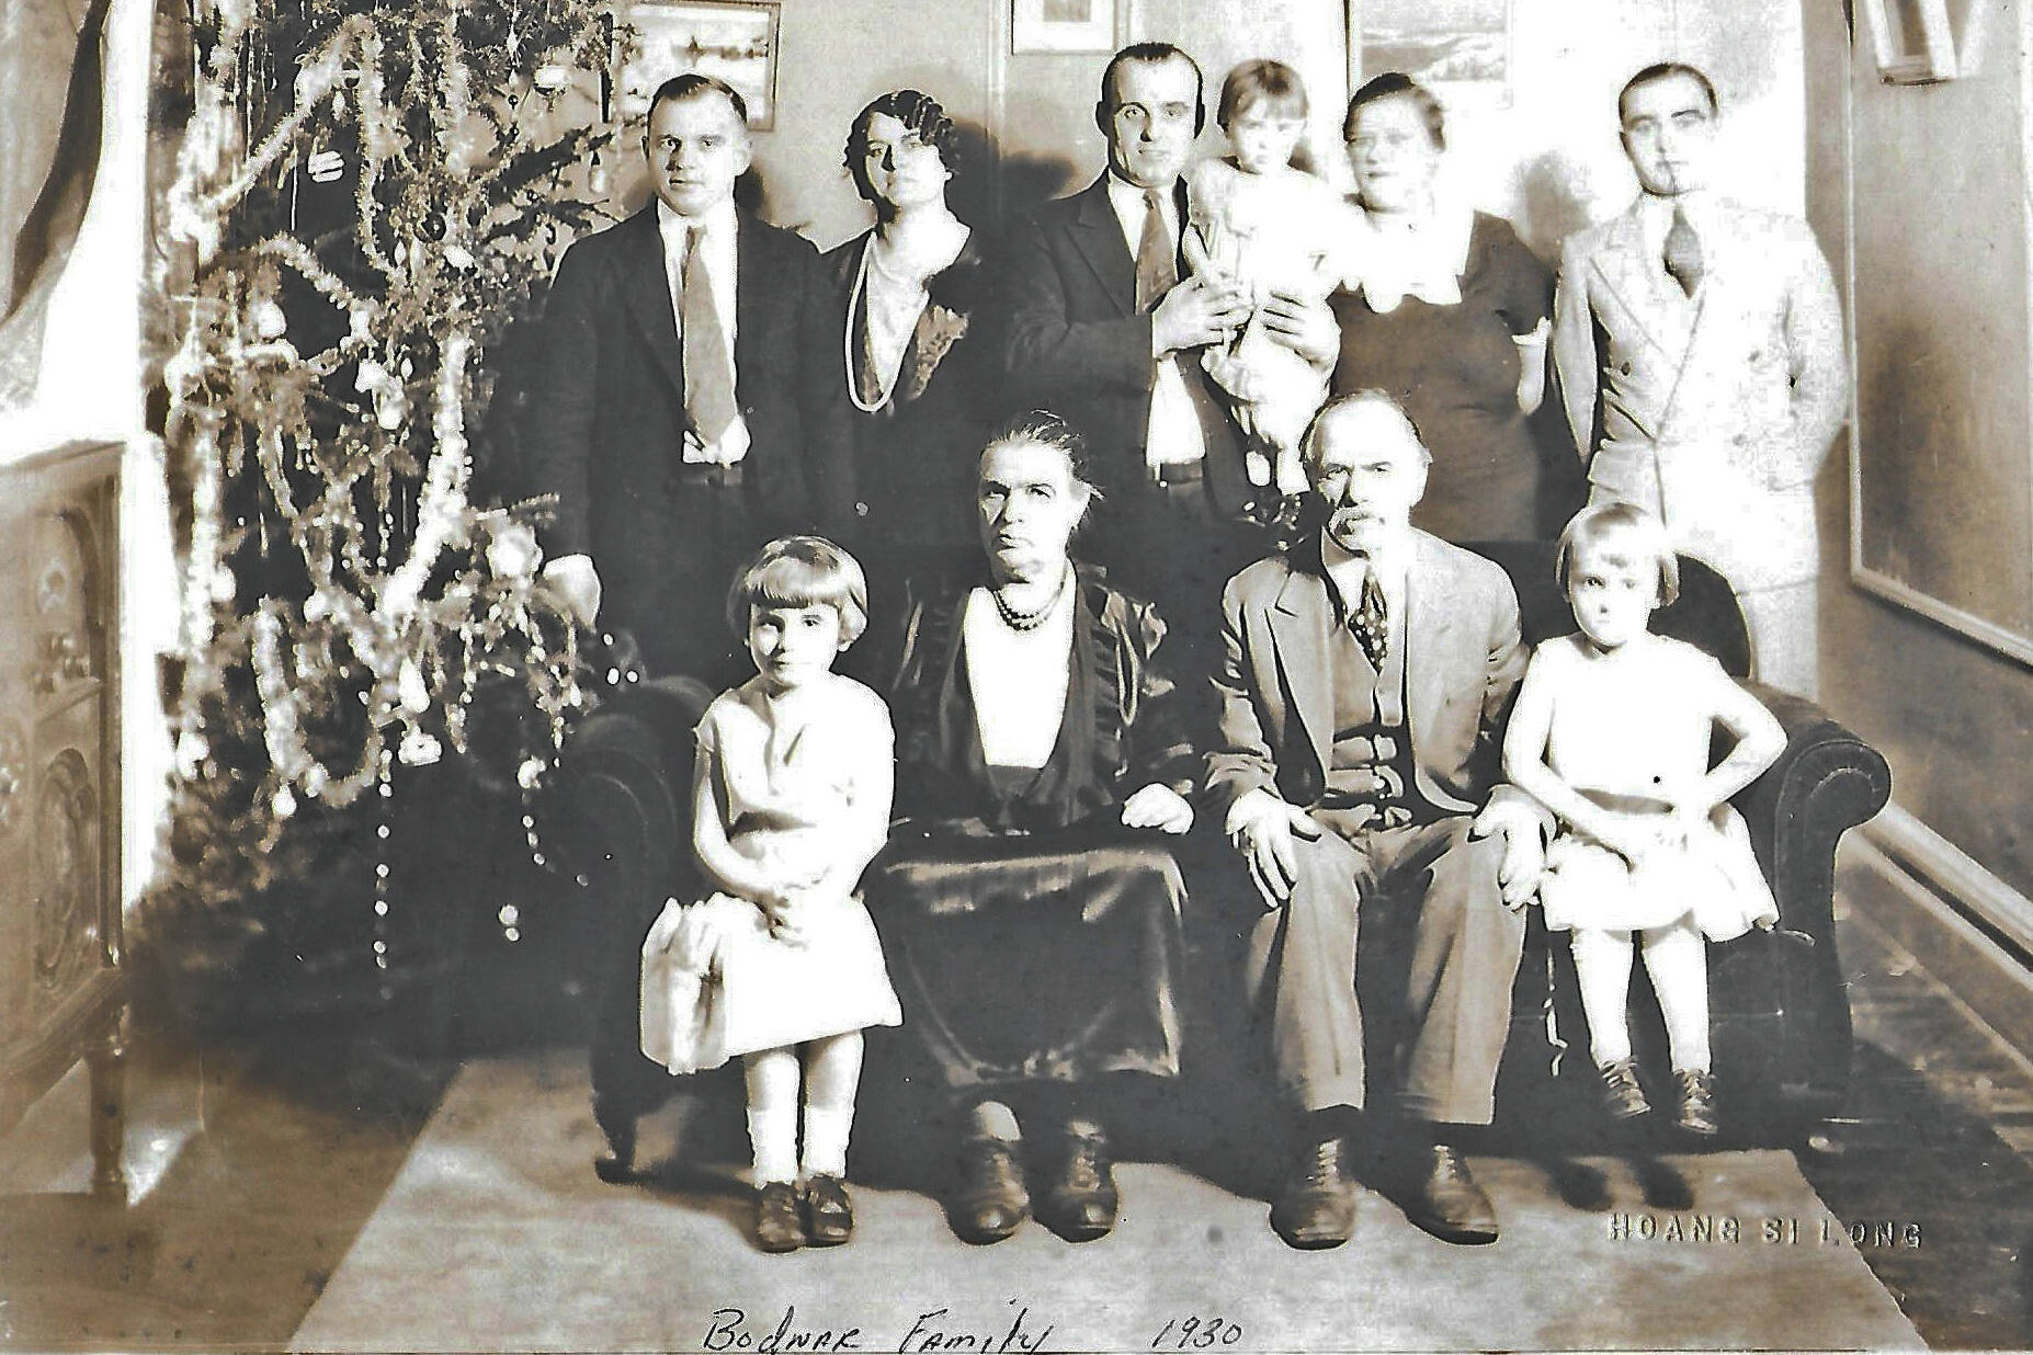
[[[1328,374],[1265,333],[1260,307],[1271,293],[1326,301],[1350,276],[1354,211],[1305,171],[1248,175],[1228,160],[1195,165],[1185,177],[1185,203],[1191,230],[1183,248],[1193,272],[1238,282],[1258,307],[1234,341],[1206,349],[1202,366],[1228,394],[1242,431],[1285,453],[1277,469],[1287,483],[1279,488],[1299,492],[1305,479],[1291,453],[1328,398]],[[1250,459],[1250,479],[1271,479],[1262,453]]]

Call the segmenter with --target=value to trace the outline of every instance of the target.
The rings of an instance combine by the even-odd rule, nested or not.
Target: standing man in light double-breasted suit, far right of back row
[[[1836,284],[1805,221],[1710,191],[1702,71],[1639,71],[1618,118],[1643,191],[1567,240],[1553,307],[1590,502],[1659,514],[1736,589],[1754,674],[1811,697],[1813,475],[1848,408]]]

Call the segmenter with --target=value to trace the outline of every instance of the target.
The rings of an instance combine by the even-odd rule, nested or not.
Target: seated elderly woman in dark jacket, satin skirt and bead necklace
[[[1031,1213],[1019,1111],[1055,1142],[1039,1219],[1114,1227],[1098,1117],[1120,1073],[1179,1071],[1179,867],[1197,764],[1165,624],[1067,542],[1092,486],[1080,439],[1029,414],[980,457],[986,561],[915,589],[892,676],[897,811],[868,898],[960,1134],[953,1231],[1000,1241]]]

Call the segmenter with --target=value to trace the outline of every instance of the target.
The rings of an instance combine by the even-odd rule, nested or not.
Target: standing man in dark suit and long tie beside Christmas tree
[[[768,536],[844,534],[846,427],[817,366],[819,254],[734,205],[748,110],[712,75],[657,89],[655,201],[575,242],[545,315],[531,463],[557,496],[545,577],[653,674],[740,676],[724,599]],[[838,353],[834,356],[838,364]]]

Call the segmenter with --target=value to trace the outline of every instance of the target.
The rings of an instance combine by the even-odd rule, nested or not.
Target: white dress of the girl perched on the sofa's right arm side
[[[1594,654],[1582,636],[1547,640],[1525,672],[1551,697],[1547,766],[1606,809],[1659,815],[1675,786],[1708,774],[1714,711],[1730,674],[1712,656],[1667,636]],[[1521,697],[1523,699],[1523,697]],[[1687,918],[1710,941],[1779,920],[1742,817],[1720,804],[1706,831],[1632,869],[1567,827],[1553,837],[1539,882],[1555,930],[1637,930]]]

